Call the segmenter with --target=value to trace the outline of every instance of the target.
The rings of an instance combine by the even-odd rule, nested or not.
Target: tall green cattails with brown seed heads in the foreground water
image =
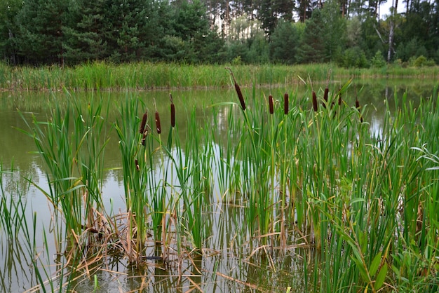
[[[20,110],[43,168],[1,165],[3,273],[30,267],[29,292],[437,290],[437,91],[373,105],[327,72],[300,89],[233,73],[221,98],[65,90]]]

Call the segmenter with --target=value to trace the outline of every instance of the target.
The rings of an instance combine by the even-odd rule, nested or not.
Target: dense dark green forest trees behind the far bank
[[[6,0],[9,64],[439,63],[439,1]],[[383,10],[381,10],[382,8]],[[403,8],[403,9],[401,9]],[[401,12],[403,11],[403,12]]]

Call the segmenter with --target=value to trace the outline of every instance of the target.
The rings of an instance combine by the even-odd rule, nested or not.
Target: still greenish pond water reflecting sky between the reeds
[[[343,84],[332,84],[330,94],[332,95],[331,92],[337,91]],[[313,86],[318,95],[322,96],[323,90],[317,88],[320,85]],[[343,100],[347,107],[354,107],[357,97],[364,109],[362,118],[367,122],[367,131],[379,136],[381,128],[385,127],[383,123],[386,121],[386,111],[395,110],[393,102],[395,95],[401,99],[407,95],[406,100],[411,101],[414,107],[417,107],[419,100],[431,97],[433,91],[437,90],[437,86],[437,81],[353,81],[353,84],[344,92]],[[248,97],[253,95],[253,90],[255,91],[255,99],[250,102],[251,98]],[[252,107],[257,109],[255,104],[266,104],[269,94],[272,94],[274,99],[278,101],[277,105],[280,105],[278,107],[282,107],[285,90],[290,93],[291,97],[290,107],[292,110],[290,111],[294,111],[293,108],[296,106],[297,108],[309,107],[312,109],[309,85],[271,90],[245,88],[243,93],[249,100],[250,109]],[[261,223],[261,214],[259,213],[253,218],[249,216],[248,202],[243,199],[245,192],[234,195],[231,194],[230,188],[223,186],[230,184],[232,179],[229,176],[232,176],[232,173],[217,169],[234,161],[234,154],[229,154],[228,151],[224,151],[224,148],[228,144],[236,144],[231,149],[234,151],[239,149],[239,138],[230,137],[231,132],[227,131],[234,123],[233,120],[238,119],[242,114],[238,104],[234,107],[228,104],[228,102],[238,103],[234,90],[172,90],[171,94],[176,109],[175,125],[177,125],[177,135],[180,137],[178,142],[181,147],[180,149],[168,148],[170,155],[180,156],[180,160],[184,161],[186,156],[189,157],[189,154],[186,154],[189,152],[189,149],[186,148],[187,145],[199,146],[199,152],[203,153],[203,151],[208,150],[212,154],[211,161],[200,163],[205,163],[209,167],[209,164],[213,162],[210,168],[212,176],[209,178],[212,180],[211,189],[208,189],[208,195],[202,202],[204,205],[208,205],[208,208],[203,210],[203,212],[208,213],[208,216],[203,216],[205,223],[201,227],[205,233],[202,240],[202,253],[190,253],[194,248],[192,243],[195,243],[196,239],[191,238],[188,234],[181,240],[182,243],[170,245],[170,252],[163,251],[163,245],[146,245],[145,252],[149,259],[142,261],[140,265],[131,264],[126,255],[115,252],[111,257],[100,255],[99,259],[93,261],[89,259],[90,264],[81,264],[80,269],[75,271],[69,266],[63,267],[69,261],[69,255],[57,252],[59,247],[62,247],[62,250],[67,250],[69,245],[58,243],[59,246],[57,246],[55,244],[59,238],[55,236],[57,224],[54,219],[54,207],[50,204],[47,196],[50,193],[50,186],[46,175],[46,165],[41,156],[36,154],[34,139],[20,130],[32,130],[34,128],[32,126],[33,117],[37,121],[50,120],[51,111],[55,108],[55,104],[67,105],[69,99],[79,101],[79,104],[84,105],[84,109],[89,103],[93,104],[97,100],[102,99],[104,104],[108,102],[108,108],[102,111],[104,113],[102,116],[106,117],[102,133],[108,137],[101,165],[104,169],[101,182],[102,204],[108,217],[125,217],[116,216],[117,214],[126,214],[127,204],[124,185],[126,177],[124,177],[122,169],[123,155],[120,149],[121,137],[118,136],[114,123],[121,121],[120,110],[126,101],[138,99],[141,101],[141,107],[137,116],[141,118],[144,109],[148,109],[151,117],[149,118],[151,132],[155,131],[154,112],[157,111],[161,114],[161,128],[163,129],[161,137],[163,144],[166,144],[170,132],[173,132],[167,117],[169,115],[170,91],[0,93],[0,125],[2,125],[0,163],[2,170],[4,170],[1,174],[2,198],[4,198],[1,213],[4,218],[7,217],[6,210],[17,210],[18,213],[24,214],[27,231],[30,231],[29,235],[25,235],[26,233],[23,232],[25,229],[22,229],[20,225],[6,224],[6,221],[0,226],[1,292],[34,292],[40,288],[41,284],[49,291],[57,290],[63,286],[68,291],[74,292],[130,292],[140,288],[151,292],[286,292],[288,289],[295,292],[307,292],[309,289],[320,288],[320,284],[309,280],[318,280],[316,275],[320,274],[322,269],[319,262],[322,255],[316,249],[313,241],[310,240],[311,232],[304,233],[303,230],[297,229],[299,215],[292,212],[287,216],[288,213],[291,213],[291,209],[271,212],[271,217],[277,219],[276,221],[288,218],[282,222],[283,227],[278,228],[279,231],[285,233],[285,240],[282,240],[281,237],[278,238],[279,233],[275,232],[278,231],[276,229],[269,229],[264,233],[261,231],[262,226],[250,229],[246,223],[251,219]],[[230,118],[231,116],[235,118]],[[190,119],[192,122],[188,123]],[[30,128],[27,123],[29,123]],[[204,139],[210,137],[208,136],[210,134],[197,138],[194,137],[194,130],[191,128],[203,128],[203,132],[205,132],[205,128],[208,128],[209,125],[211,125],[212,131],[216,132],[212,134],[216,140],[210,144],[208,149],[205,149],[203,147],[206,143]],[[257,131],[253,133],[257,133]],[[193,139],[200,139],[200,142],[193,142]],[[153,144],[151,149],[154,150],[161,142],[156,140],[151,144]],[[55,145],[58,147],[57,144]],[[179,154],[179,150],[182,150],[182,154]],[[163,152],[160,151],[155,152],[153,156],[154,163],[151,169],[156,169],[156,171],[151,170],[151,174],[156,177],[153,180],[156,184],[163,184],[165,181],[163,177],[168,178],[173,173],[179,172],[177,167],[162,169],[163,165],[174,163],[166,158],[166,152],[164,155],[165,158],[163,158]],[[222,161],[224,156],[231,156],[227,163],[224,165],[215,163]],[[245,165],[245,160],[242,162],[241,167]],[[177,160],[175,164],[178,164]],[[194,163],[187,163],[187,165],[191,164]],[[206,166],[202,166],[200,171],[209,169]],[[7,172],[11,168],[13,172]],[[243,169],[245,172],[245,167]],[[182,170],[184,171],[185,168]],[[164,174],[165,172],[166,174]],[[269,173],[271,172],[267,169],[266,174]],[[270,175],[264,176],[266,176],[265,179],[271,180],[271,185],[275,185],[274,182],[280,185],[279,182],[283,180],[282,176],[274,171],[272,177]],[[299,175],[297,176],[299,177]],[[205,177],[209,176],[203,174],[200,177],[200,184]],[[225,178],[219,179],[218,177]],[[170,193],[183,193],[184,189],[180,181],[169,179],[166,184],[163,184],[163,190],[167,193],[166,198],[163,199],[166,205],[173,204],[171,203],[173,197],[169,196]],[[241,184],[243,191],[249,190],[246,189],[245,183],[240,182],[239,184]],[[259,182],[255,179],[255,181],[250,182],[251,184],[259,184]],[[150,186],[148,190],[152,189]],[[279,198],[282,198],[282,192],[277,189],[278,187],[276,190],[273,187],[273,189],[267,189],[267,192],[276,193]],[[205,193],[207,192],[203,191],[203,195]],[[228,194],[226,195],[226,193]],[[11,207],[11,198],[13,199],[12,203],[15,204],[14,208],[7,209],[6,207]],[[177,201],[178,203],[175,205],[182,205],[186,209],[191,208],[188,207],[188,203],[183,198],[179,197]],[[290,201],[292,202],[292,199]],[[255,203],[255,205],[258,204],[260,203]],[[271,205],[277,204],[277,201],[271,203]],[[196,210],[194,211],[196,212]],[[168,210],[165,219],[162,219],[162,221],[167,221],[167,224],[164,225],[166,229],[173,229],[172,233],[165,231],[168,236],[179,231],[176,222],[173,222],[173,217],[178,217],[178,212],[176,212],[177,214],[172,214],[172,212],[173,210]],[[285,214],[283,214],[284,212]],[[180,216],[183,217],[183,215],[187,217],[184,211]],[[10,217],[16,219],[13,216]],[[20,221],[22,220],[18,220],[18,222]],[[276,221],[269,222],[269,226],[279,226]],[[6,233],[8,225],[18,230],[16,237],[11,237],[10,234]],[[305,229],[305,231],[307,230]],[[148,233],[153,232],[149,231]],[[272,235],[269,235],[270,233]],[[149,236],[149,238],[151,237]],[[172,241],[170,240],[171,242],[176,241],[174,236],[170,237],[173,238]],[[258,237],[276,238],[276,240],[259,242]],[[278,243],[285,243],[285,245]],[[185,249],[177,250],[175,247],[179,247],[179,249],[184,247]],[[29,257],[29,250],[32,248],[36,253],[34,261],[32,257]],[[168,261],[163,259],[163,254],[166,253],[173,255]],[[184,257],[175,255],[178,253],[184,254]],[[90,255],[90,258],[93,258],[96,254]],[[154,259],[156,256],[160,258]],[[39,273],[34,270],[35,266],[39,268],[37,270]],[[61,277],[62,275],[64,277]],[[77,278],[70,278],[71,275],[77,275]]]

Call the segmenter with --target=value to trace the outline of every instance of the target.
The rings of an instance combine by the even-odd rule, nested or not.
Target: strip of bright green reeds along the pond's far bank
[[[335,79],[358,77],[431,79],[437,81],[439,67],[344,69],[332,64],[234,65],[241,86],[299,83],[303,79],[324,81],[332,69]],[[1,90],[150,90],[154,88],[220,88],[229,86],[223,65],[180,65],[133,63],[112,65],[104,62],[77,67],[8,67],[0,63]]]

